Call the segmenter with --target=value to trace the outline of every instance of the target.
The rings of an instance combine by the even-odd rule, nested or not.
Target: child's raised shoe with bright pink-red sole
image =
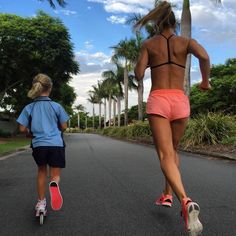
[[[60,188],[57,182],[52,181],[49,183],[49,192],[51,196],[51,206],[54,211],[61,209],[63,198],[61,196]]]

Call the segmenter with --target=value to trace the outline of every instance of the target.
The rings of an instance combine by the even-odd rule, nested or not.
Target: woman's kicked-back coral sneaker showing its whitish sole
[[[200,235],[203,226],[198,219],[200,213],[200,207],[196,202],[192,202],[190,198],[184,198],[182,200],[182,216],[185,222],[185,229],[189,235]]]

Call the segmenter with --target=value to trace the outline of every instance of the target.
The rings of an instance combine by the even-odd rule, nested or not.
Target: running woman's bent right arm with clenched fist
[[[199,87],[203,90],[210,89],[210,58],[206,50],[196,40],[190,39],[188,52],[192,53],[199,60],[199,66],[202,74],[202,82]]]

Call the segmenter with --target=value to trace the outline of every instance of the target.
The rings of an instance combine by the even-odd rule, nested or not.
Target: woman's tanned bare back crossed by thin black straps
[[[189,40],[175,35],[169,37],[158,35],[144,43],[148,51],[148,65],[151,68],[151,90],[183,90]]]

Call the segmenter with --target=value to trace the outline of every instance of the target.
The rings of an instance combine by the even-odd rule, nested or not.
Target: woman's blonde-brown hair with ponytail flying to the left
[[[146,16],[144,16],[134,25],[134,29],[141,28],[149,22],[154,23],[157,31],[160,33],[165,28],[174,28],[176,19],[170,3],[167,1],[160,2],[153,10],[151,10]]]

